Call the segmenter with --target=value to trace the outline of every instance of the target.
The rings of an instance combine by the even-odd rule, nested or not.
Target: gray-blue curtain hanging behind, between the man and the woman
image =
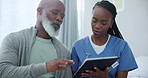
[[[77,0],[61,0],[65,5],[65,18],[60,29],[59,40],[69,49],[78,39]]]

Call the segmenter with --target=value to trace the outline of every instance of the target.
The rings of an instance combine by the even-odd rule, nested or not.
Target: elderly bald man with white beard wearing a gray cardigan
[[[0,78],[72,78],[69,50],[55,36],[65,7],[41,0],[35,27],[7,35],[0,47]]]

